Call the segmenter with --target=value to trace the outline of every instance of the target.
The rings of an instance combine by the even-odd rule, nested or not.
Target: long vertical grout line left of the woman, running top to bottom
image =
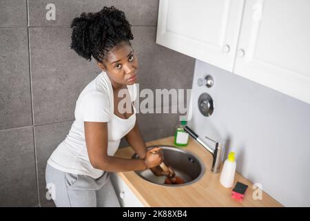
[[[38,173],[38,160],[37,160],[37,148],[36,148],[36,136],[34,134],[34,108],[33,108],[33,91],[32,91],[32,75],[31,75],[31,57],[30,57],[30,28],[29,28],[29,0],[26,1],[26,12],[27,12],[27,35],[28,35],[28,62],[29,62],[29,76],[30,76],[30,98],[31,98],[31,109],[32,109],[32,135],[33,135],[33,146],[34,146],[34,168],[36,173],[37,181],[37,202],[38,206],[41,207],[40,202],[40,191],[39,191],[39,173]]]

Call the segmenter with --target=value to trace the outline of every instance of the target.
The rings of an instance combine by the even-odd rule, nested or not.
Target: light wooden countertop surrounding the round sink
[[[189,144],[182,148],[198,155],[200,160],[205,164],[205,174],[194,184],[176,187],[160,186],[143,180],[133,171],[117,173],[137,198],[141,200],[144,206],[282,206],[282,204],[271,198],[265,192],[262,192],[262,200],[254,200],[252,195],[256,189],[252,189],[253,184],[237,172],[235,184],[239,181],[247,184],[249,187],[245,192],[245,198],[242,202],[232,199],[232,188],[226,189],[223,187],[219,181],[220,173],[211,172],[211,154],[195,140],[192,138],[189,139]],[[166,137],[161,140],[147,142],[146,144],[147,146],[174,146],[174,137]],[[133,154],[134,151],[130,147],[119,148],[116,152],[116,156],[125,158],[130,158]]]

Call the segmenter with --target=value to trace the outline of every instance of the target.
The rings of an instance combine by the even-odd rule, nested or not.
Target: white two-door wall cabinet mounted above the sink
[[[309,0],[160,0],[157,44],[310,104],[309,39]]]

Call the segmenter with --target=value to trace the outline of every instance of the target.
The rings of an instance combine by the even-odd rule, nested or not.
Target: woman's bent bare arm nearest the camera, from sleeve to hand
[[[150,154],[147,159],[124,159],[107,155],[107,123],[84,122],[85,141],[90,163],[103,171],[139,171],[161,164],[163,153]],[[144,158],[144,157],[143,157]]]

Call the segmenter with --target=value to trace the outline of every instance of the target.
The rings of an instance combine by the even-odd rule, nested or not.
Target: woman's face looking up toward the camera
[[[120,88],[124,84],[134,84],[138,74],[138,59],[134,55],[132,46],[123,41],[114,46],[105,55],[103,64],[99,67],[107,73],[114,88]]]

